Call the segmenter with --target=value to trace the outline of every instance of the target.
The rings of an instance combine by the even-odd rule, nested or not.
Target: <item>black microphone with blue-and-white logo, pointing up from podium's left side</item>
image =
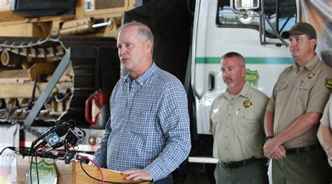
[[[74,120],[68,120],[67,122],[62,122],[60,125],[55,125],[46,130],[41,136],[39,136],[35,141],[32,142],[30,151],[34,152],[38,146],[45,146],[48,143],[50,146],[54,146],[56,143],[59,143],[60,137],[67,134],[68,130],[75,127]],[[43,140],[43,141],[41,141]],[[40,142],[41,141],[41,142]]]

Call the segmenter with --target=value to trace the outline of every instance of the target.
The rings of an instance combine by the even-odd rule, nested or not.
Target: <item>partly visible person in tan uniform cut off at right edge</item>
[[[332,78],[326,78],[325,87],[332,92]],[[328,163],[332,167],[332,93],[326,104],[323,117],[321,117],[317,137],[325,150]]]

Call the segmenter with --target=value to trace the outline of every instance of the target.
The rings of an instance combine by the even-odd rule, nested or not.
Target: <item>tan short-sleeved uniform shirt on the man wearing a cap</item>
[[[296,62],[280,74],[272,97],[266,107],[274,113],[273,132],[280,134],[296,119],[307,112],[323,113],[330,92],[324,86],[326,78],[332,77],[332,70],[317,55],[305,66],[298,67]],[[297,137],[284,146],[297,148],[318,142],[318,126]]]

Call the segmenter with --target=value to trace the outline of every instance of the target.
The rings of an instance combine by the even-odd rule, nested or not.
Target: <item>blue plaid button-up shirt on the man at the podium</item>
[[[188,101],[181,82],[153,63],[139,78],[121,78],[110,99],[111,117],[95,153],[100,167],[144,169],[165,178],[191,150]]]

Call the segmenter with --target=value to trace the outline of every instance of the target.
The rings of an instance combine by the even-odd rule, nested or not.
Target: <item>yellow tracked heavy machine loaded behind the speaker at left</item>
[[[1,1],[1,120],[27,118],[69,48],[77,57],[70,56],[36,118],[81,117],[90,94],[110,93],[120,70],[116,28],[135,6],[132,0]]]

